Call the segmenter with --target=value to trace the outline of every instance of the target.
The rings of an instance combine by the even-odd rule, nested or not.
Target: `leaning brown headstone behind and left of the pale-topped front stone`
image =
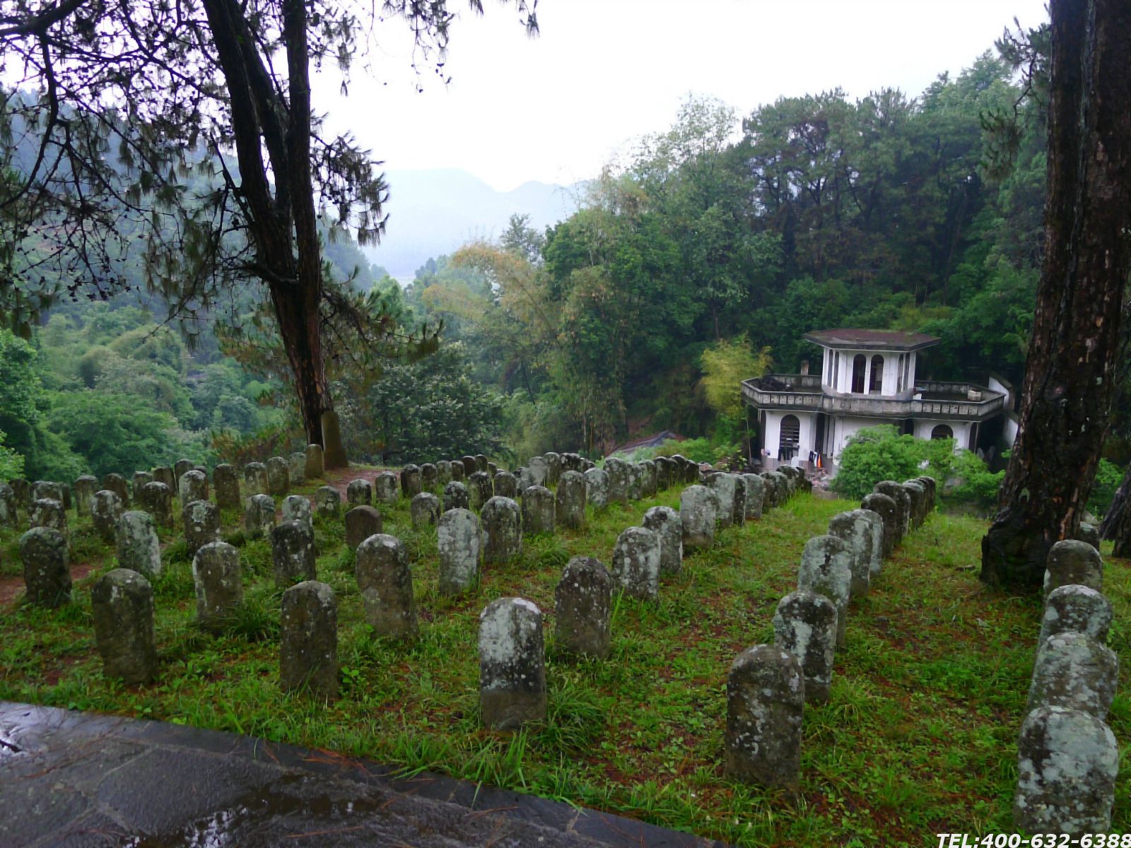
[[[413,572],[404,543],[387,534],[370,536],[357,546],[355,573],[365,605],[365,622],[377,634],[391,639],[415,639],[418,629],[413,600]]]

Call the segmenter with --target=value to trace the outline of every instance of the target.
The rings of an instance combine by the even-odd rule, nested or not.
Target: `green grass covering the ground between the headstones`
[[[313,492],[308,485],[302,491]],[[869,596],[854,602],[827,704],[806,707],[801,791],[769,793],[723,773],[726,673],[734,656],[772,641],[778,599],[795,588],[805,540],[855,504],[808,495],[720,533],[662,581],[658,603],[614,603],[606,661],[568,661],[553,643],[553,589],[569,556],[611,562],[616,535],[672,490],[590,514],[587,530],[528,537],[523,557],[483,574],[458,600],[437,594],[435,533],[416,531],[407,502],[383,509],[385,530],[414,562],[421,638],[404,647],[364,623],[340,520],[316,519],[319,579],[339,599],[342,698],[326,707],[279,693],[278,602],[266,542],[245,542],[238,517],[243,613],[222,637],[193,624],[190,563],[173,536],[155,582],[158,683],[104,680],[94,648],[90,583],[114,566],[88,520],[72,538],[94,570],[70,606],[0,612],[0,699],[156,718],[265,736],[440,771],[636,816],[740,846],[924,846],[938,832],[1011,831],[1016,738],[1039,622],[1038,602],[977,580],[985,525],[936,513],[905,539]],[[74,518],[74,513],[71,513]],[[18,574],[16,534],[0,536],[0,572]],[[1108,559],[1111,646],[1124,669],[1129,563]],[[520,595],[545,614],[550,715],[513,735],[478,720],[476,632],[492,599]],[[1125,675],[1110,724],[1121,743],[1113,830],[1131,830]]]

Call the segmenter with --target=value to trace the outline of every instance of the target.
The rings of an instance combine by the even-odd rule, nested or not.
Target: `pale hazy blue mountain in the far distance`
[[[513,191],[495,191],[456,168],[388,171],[389,222],[381,243],[365,248],[372,262],[402,282],[432,257],[451,253],[473,239],[495,239],[511,215],[529,215],[543,227],[564,220],[578,207],[584,183],[551,185],[526,182]]]

